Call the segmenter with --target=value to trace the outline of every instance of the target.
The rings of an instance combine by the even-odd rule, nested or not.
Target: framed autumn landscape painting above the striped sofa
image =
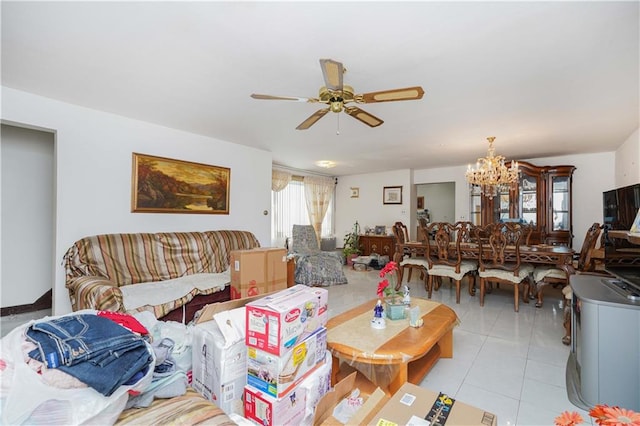
[[[229,214],[231,169],[133,153],[134,213]]]

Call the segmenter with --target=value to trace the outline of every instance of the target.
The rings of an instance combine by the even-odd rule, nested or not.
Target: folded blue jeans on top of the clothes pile
[[[38,346],[29,356],[111,395],[153,357],[145,341],[110,319],[92,314],[67,315],[32,324],[27,338]]]

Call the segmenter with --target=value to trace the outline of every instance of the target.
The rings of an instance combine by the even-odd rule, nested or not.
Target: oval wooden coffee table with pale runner
[[[439,358],[453,357],[456,313],[446,305],[417,297],[424,325],[409,326],[409,320],[386,319],[387,327],[371,327],[377,299],[337,315],[327,323],[327,347],[332,355],[331,381],[341,378],[341,363],[353,367],[375,386],[389,394],[405,382],[419,384]]]

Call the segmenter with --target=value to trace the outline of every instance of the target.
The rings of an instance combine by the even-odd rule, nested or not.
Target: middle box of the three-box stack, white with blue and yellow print
[[[319,328],[283,355],[256,348],[247,351],[247,384],[276,398],[289,391],[324,362],[327,329]]]

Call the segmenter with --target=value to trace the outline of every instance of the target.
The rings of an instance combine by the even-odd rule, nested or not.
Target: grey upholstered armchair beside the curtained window
[[[342,255],[321,251],[313,226],[293,225],[290,252],[296,261],[296,284],[327,287],[347,283]]]

